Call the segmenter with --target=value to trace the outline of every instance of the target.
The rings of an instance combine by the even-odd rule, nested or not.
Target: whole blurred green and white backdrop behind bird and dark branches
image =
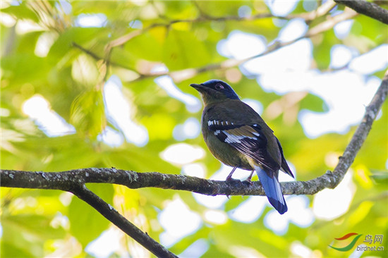
[[[188,86],[217,78],[274,129],[296,180],[310,180],[337,164],[388,66],[386,25],[332,1],[1,1],[0,11],[3,169],[224,180],[231,168],[208,152]],[[283,216],[265,197],[87,186],[180,257],[387,257],[387,118],[384,104],[337,188],[286,197]],[[328,246],[351,232],[384,235],[384,252]],[[1,188],[0,233],[1,257],[152,256],[55,190]]]

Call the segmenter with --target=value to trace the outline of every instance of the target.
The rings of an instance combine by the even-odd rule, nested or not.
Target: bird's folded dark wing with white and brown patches
[[[278,171],[280,166],[267,152],[267,137],[260,125],[237,125],[229,121],[207,121],[209,130],[222,142],[254,159],[271,171]]]

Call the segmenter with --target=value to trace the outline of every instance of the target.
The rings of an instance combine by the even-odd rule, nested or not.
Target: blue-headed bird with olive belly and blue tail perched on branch
[[[222,80],[190,84],[202,95],[204,109],[201,127],[205,143],[213,156],[233,167],[227,181],[234,180],[236,168],[253,172],[264,188],[269,203],[284,214],[288,208],[279,184],[279,170],[293,177],[283,149],[274,132],[261,116],[238,97]]]

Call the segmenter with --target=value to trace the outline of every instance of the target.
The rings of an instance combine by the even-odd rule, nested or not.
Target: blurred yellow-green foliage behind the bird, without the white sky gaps
[[[306,6],[320,2],[299,1],[291,14],[310,11]],[[275,18],[218,19],[238,17],[241,6],[248,6],[251,15],[270,13],[262,1],[2,1],[1,168],[66,171],[114,166],[139,172],[180,173],[181,166],[164,161],[160,153],[169,145],[181,142],[173,137],[176,125],[190,117],[200,118],[200,112],[190,113],[183,102],[170,97],[154,82],[154,76],[147,74],[161,63],[174,71],[225,61],[217,52],[217,43],[226,39],[231,31],[262,35],[271,42],[286,24],[286,20],[280,23]],[[337,8],[340,10],[342,6]],[[78,24],[80,17],[96,13],[106,18],[102,27]],[[195,20],[198,17],[202,19]],[[173,23],[180,19],[192,21]],[[312,20],[310,26],[322,20],[325,18]],[[153,27],[148,29],[149,26]],[[387,42],[387,28],[383,26],[372,18],[357,16],[350,34],[344,39],[337,38],[333,30],[315,36],[312,39],[315,68],[329,70],[330,49],[334,44],[353,47],[363,54]],[[107,51],[110,42],[131,33],[138,35]],[[265,108],[274,102],[285,103],[292,94],[279,96],[265,92],[255,80],[241,78],[241,72],[237,71],[240,79],[233,85],[238,94],[250,99],[257,96]],[[104,106],[104,82],[111,75],[119,77],[123,95],[131,104],[128,120],[147,129],[149,141],[143,147],[131,141],[111,147],[101,140],[107,126],[123,135],[122,128],[107,115]],[[375,75],[381,78],[382,72]],[[198,93],[188,87],[190,83],[211,78],[226,80],[225,77],[224,69],[203,70],[190,79],[176,81],[176,86],[198,97]],[[73,125],[75,133],[47,136],[44,128],[23,111],[23,104],[33,96],[44,97],[51,111]],[[322,99],[312,94],[305,94],[292,108],[296,114],[301,109],[327,110]],[[364,252],[363,256],[387,257],[388,205],[384,192],[387,190],[387,111],[385,104],[383,115],[373,124],[351,167],[356,193],[346,214],[332,220],[315,218],[308,228],[289,223],[288,231],[277,235],[265,226],[264,218],[270,210],[267,207],[253,223],[228,219],[219,225],[206,221],[198,231],[169,249],[180,254],[202,239],[209,245],[203,257],[234,257],[238,255],[231,252],[234,246],[256,250],[266,257],[289,257],[301,255],[291,252],[291,247],[299,243],[314,257],[348,257],[350,252],[338,252],[328,245],[332,245],[334,238],[357,232],[384,235],[384,252]],[[293,116],[291,120],[290,116]],[[298,180],[309,180],[327,169],[332,170],[337,160],[333,163],[328,157],[341,155],[355,130],[352,128],[344,135],[327,133],[309,139],[296,115],[287,113],[287,109],[276,117],[264,112],[263,117],[281,139],[287,159],[297,170]],[[197,162],[206,167],[207,178],[212,176],[220,164],[207,152],[202,137],[184,141],[206,150],[205,157]],[[204,221],[208,210],[189,192],[129,190],[117,185],[92,185],[90,188],[156,240],[164,231],[158,221],[159,213],[169,200],[183,199]],[[312,207],[314,197],[308,198]],[[230,211],[245,199],[231,197],[217,210]],[[1,227],[1,257],[49,254],[88,257],[85,247],[112,226],[71,194],[1,188]],[[113,257],[123,252],[131,257],[150,256],[147,251],[140,252],[131,238],[121,235],[121,239],[121,252],[112,254]]]

